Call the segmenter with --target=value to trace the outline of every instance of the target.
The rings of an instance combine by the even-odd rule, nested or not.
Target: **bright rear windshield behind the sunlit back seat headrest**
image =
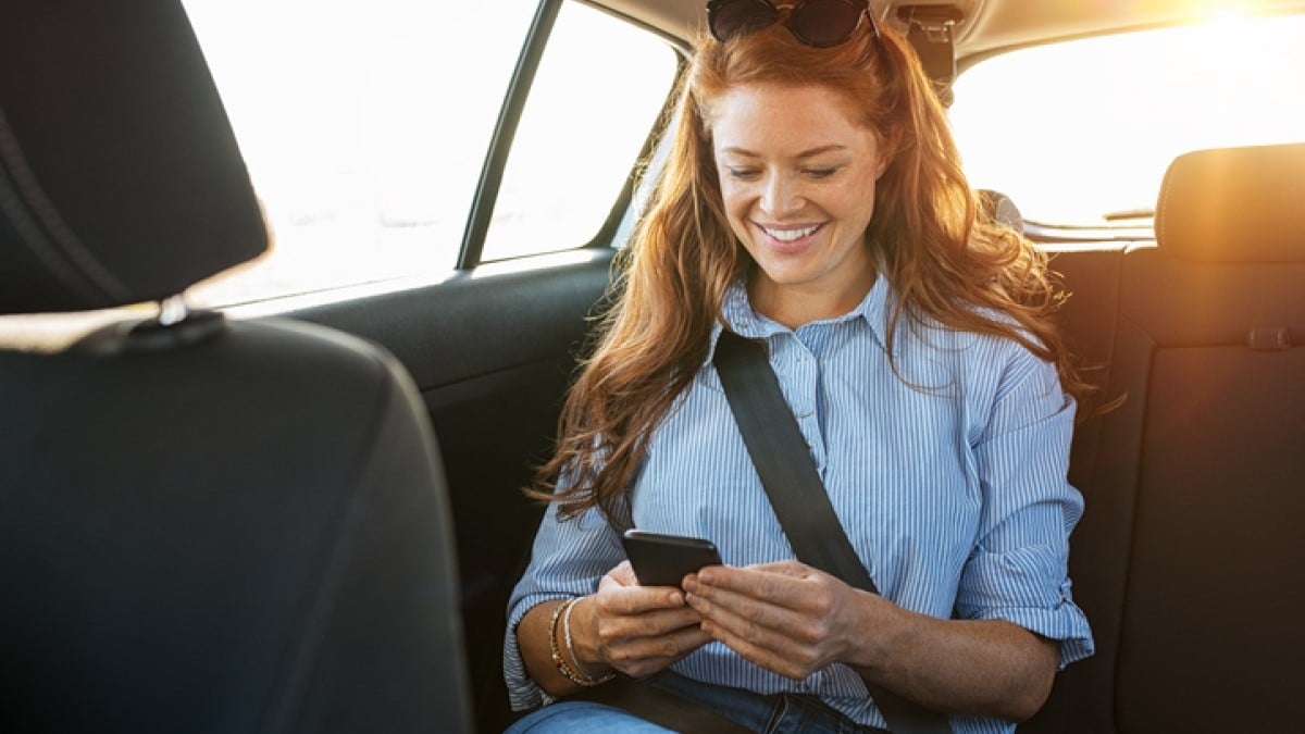
[[[1043,226],[1150,227],[1169,162],[1305,140],[1305,17],[1073,40],[981,61],[951,121],[971,183]]]

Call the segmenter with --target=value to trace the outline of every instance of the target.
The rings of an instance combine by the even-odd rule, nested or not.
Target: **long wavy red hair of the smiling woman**
[[[727,289],[753,265],[726,218],[711,145],[713,103],[746,84],[833,89],[880,136],[891,162],[865,242],[898,296],[890,341],[903,317],[996,334],[1053,362],[1081,404],[1091,392],[1051,324],[1062,296],[1045,255],[979,206],[933,82],[900,34],[863,26],[834,48],[804,46],[782,24],[705,38],[681,81],[666,166],[562,407],[556,453],[530,490],[560,503],[562,517],[598,507],[629,525],[626,491],[649,439],[702,367]]]

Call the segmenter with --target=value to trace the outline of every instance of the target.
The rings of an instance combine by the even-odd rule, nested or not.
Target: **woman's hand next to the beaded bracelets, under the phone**
[[[596,594],[572,611],[576,658],[586,670],[616,669],[642,678],[710,641],[699,623],[684,592],[639,586],[629,562],[622,562],[603,576]]]

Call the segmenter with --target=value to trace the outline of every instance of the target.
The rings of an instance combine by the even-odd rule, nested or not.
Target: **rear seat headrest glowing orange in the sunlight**
[[[1173,257],[1305,260],[1305,144],[1197,150],[1169,165],[1155,235]]]

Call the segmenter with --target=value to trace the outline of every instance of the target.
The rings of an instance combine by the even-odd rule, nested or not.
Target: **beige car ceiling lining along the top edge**
[[[705,0],[590,0],[663,33],[692,40],[706,25]],[[1305,0],[872,0],[880,18],[907,7],[951,5],[963,20],[953,31],[966,59],[1049,40],[1201,22],[1225,13],[1305,12]],[[895,22],[895,21],[894,21]]]

